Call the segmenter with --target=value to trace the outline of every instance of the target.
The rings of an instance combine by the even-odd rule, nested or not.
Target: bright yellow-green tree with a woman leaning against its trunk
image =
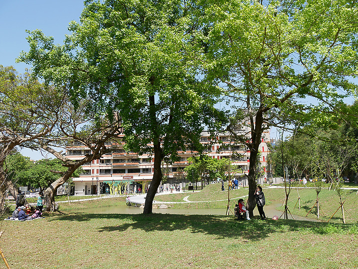
[[[270,125],[302,121],[335,124],[343,98],[357,94],[356,1],[205,2],[198,24],[201,65],[207,79],[222,88],[238,113],[229,130],[250,150],[249,199],[256,206],[256,163],[263,132]],[[193,57],[199,58],[198,55]],[[304,104],[312,97],[317,105]],[[235,126],[249,125],[249,135],[235,137]]]

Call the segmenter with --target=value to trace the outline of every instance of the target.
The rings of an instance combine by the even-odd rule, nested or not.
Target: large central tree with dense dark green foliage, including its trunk
[[[193,8],[180,0],[88,0],[65,45],[33,31],[20,57],[75,103],[89,96],[89,113],[119,111],[126,148],[154,157],[145,214],[152,212],[163,159],[175,161],[179,147],[199,145],[204,126],[217,129],[223,118],[214,108],[219,91],[199,80],[188,57],[195,48],[187,26]]]

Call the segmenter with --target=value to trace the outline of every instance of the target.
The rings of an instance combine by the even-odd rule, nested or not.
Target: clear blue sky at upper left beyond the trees
[[[0,0],[0,65],[13,66],[24,73],[30,66],[15,63],[21,51],[28,51],[25,30],[40,29],[62,44],[72,20],[79,21],[83,0]],[[39,152],[23,150],[31,159],[44,158]],[[48,156],[52,158],[53,156]]]

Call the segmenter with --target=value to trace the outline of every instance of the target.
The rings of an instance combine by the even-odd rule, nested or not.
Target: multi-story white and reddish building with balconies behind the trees
[[[121,137],[123,135],[120,135]],[[264,172],[260,182],[266,182],[267,179],[266,166],[269,153],[267,143],[269,141],[269,132],[265,132],[260,145],[260,164]],[[208,147],[204,153],[211,158],[231,159],[232,164],[239,168],[239,172],[234,177],[245,180],[249,172],[250,152],[244,145],[237,145],[232,142],[228,132],[219,134],[215,139],[210,138],[209,132],[202,132],[200,142],[207,144]],[[152,156],[150,154],[139,156],[135,152],[126,152],[123,145],[124,143],[108,143],[106,146],[112,149],[110,153],[83,166],[84,173],[79,178],[73,179],[75,195],[104,193],[110,182],[122,182],[123,184],[120,186],[122,190],[129,191],[138,190],[139,187],[143,189],[150,184],[154,167]],[[71,159],[82,159],[85,154],[89,153],[89,148],[76,141],[66,150],[67,157]],[[180,156],[178,162],[165,166],[165,173],[170,183],[177,182],[179,168],[183,169],[188,166],[188,158],[194,156],[197,152],[192,152],[189,148],[186,148],[180,149],[178,154]]]

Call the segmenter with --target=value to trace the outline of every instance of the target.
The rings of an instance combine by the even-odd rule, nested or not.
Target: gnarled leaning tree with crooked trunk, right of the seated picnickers
[[[118,138],[122,130],[120,117],[118,115],[113,118],[107,115],[98,117],[98,114],[91,116],[86,113],[87,101],[81,100],[76,107],[71,102],[66,102],[59,116],[56,132],[53,131],[52,136],[47,139],[39,139],[38,143],[41,148],[54,155],[58,159],[56,162],[62,164],[62,169],[56,172],[57,177],[52,178],[53,180],[45,190],[46,210],[48,211],[51,210],[51,206],[54,206],[54,196],[61,185],[71,177],[78,176],[78,169],[82,165],[111,152],[112,144],[120,140]],[[74,141],[89,149],[88,154],[84,154],[77,160],[62,154],[63,150],[71,147]]]

